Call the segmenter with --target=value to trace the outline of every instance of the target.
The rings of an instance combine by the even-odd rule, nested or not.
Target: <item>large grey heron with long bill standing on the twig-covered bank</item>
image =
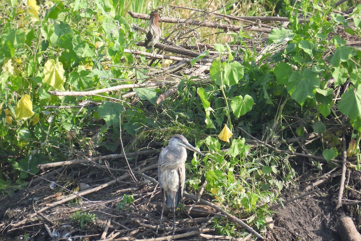
[[[158,182],[163,194],[162,214],[160,225],[162,224],[164,205],[173,207],[173,234],[175,229],[175,207],[177,207],[183,196],[184,181],[186,178],[186,167],[184,163],[187,159],[187,150],[204,154],[190,143],[183,135],[173,135],[168,146],[162,148],[158,159]]]

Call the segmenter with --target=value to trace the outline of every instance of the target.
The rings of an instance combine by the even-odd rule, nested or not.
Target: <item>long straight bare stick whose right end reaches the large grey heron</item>
[[[148,155],[158,152],[159,150],[146,150],[146,151],[136,151],[127,153],[127,156],[139,156],[139,155]],[[82,164],[82,163],[88,163],[88,162],[96,162],[101,159],[116,159],[116,158],[123,158],[123,154],[111,154],[111,155],[105,155],[105,156],[98,156],[94,158],[84,158],[84,159],[75,159],[70,161],[64,161],[64,162],[54,162],[54,163],[46,163],[46,164],[40,164],[37,167],[38,168],[49,168],[49,167],[58,167],[62,165],[73,165],[73,164]]]

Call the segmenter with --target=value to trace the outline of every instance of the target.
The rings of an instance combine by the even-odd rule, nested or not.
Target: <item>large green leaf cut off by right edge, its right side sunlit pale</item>
[[[361,89],[355,91],[350,87],[338,102],[338,109],[346,116],[350,117],[351,121],[355,121],[357,117],[361,116]]]

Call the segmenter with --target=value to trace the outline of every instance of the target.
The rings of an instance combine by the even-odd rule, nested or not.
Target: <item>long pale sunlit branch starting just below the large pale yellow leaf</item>
[[[90,96],[93,94],[100,94],[109,91],[116,91],[122,89],[130,88],[142,88],[142,87],[151,87],[151,86],[160,86],[160,85],[171,85],[174,81],[162,81],[162,82],[153,82],[153,83],[144,83],[144,84],[127,84],[127,85],[118,85],[113,87],[108,87],[99,90],[90,90],[90,91],[48,91],[51,95],[56,96]]]

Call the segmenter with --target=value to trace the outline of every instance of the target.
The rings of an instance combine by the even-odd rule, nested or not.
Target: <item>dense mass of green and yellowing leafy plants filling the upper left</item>
[[[118,136],[119,113],[125,112],[121,103],[104,102],[106,94],[93,98],[103,101],[99,107],[78,114],[43,108],[87,99],[56,97],[48,91],[98,89],[114,84],[107,77],[128,78],[123,70],[106,65],[118,63],[123,49],[136,40],[124,18],[115,15],[111,1],[57,1],[48,10],[34,3],[0,3],[6,13],[0,18],[0,155],[9,157],[3,166],[13,168],[3,177],[4,184],[36,174],[38,164],[66,160],[75,151],[101,145],[107,135]],[[103,65],[104,59],[110,61]],[[99,118],[106,124],[100,135],[81,134],[92,133]]]

